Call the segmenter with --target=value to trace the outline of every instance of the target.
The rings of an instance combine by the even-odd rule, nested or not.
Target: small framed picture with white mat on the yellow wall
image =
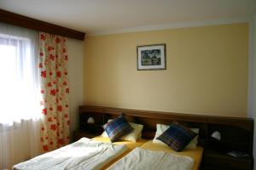
[[[166,44],[137,46],[137,70],[166,70]]]

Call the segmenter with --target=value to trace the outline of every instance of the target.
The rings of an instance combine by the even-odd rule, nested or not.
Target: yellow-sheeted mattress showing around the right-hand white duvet
[[[160,150],[165,151],[166,153],[171,153],[177,156],[189,156],[194,160],[194,165],[192,167],[193,170],[198,170],[201,164],[203,148],[201,146],[196,146],[195,150],[192,149],[185,149],[183,151],[177,152],[172,150],[166,144],[155,144],[152,140],[149,140],[145,144],[141,146],[141,148],[146,150]]]

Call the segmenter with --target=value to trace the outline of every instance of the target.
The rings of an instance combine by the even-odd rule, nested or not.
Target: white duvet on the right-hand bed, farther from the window
[[[191,170],[194,161],[188,156],[175,156],[163,151],[136,148],[108,170]]]

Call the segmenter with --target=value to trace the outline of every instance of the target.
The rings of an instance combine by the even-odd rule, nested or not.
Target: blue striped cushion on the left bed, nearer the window
[[[119,116],[118,118],[113,119],[113,121],[108,122],[105,130],[108,133],[111,142],[115,142],[126,134],[131,133],[133,127],[126,121],[124,116]]]

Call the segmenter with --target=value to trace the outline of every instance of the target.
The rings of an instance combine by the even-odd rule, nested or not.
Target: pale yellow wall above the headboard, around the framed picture
[[[137,46],[166,43],[165,71],[137,71]],[[88,37],[84,103],[247,116],[248,24]]]

